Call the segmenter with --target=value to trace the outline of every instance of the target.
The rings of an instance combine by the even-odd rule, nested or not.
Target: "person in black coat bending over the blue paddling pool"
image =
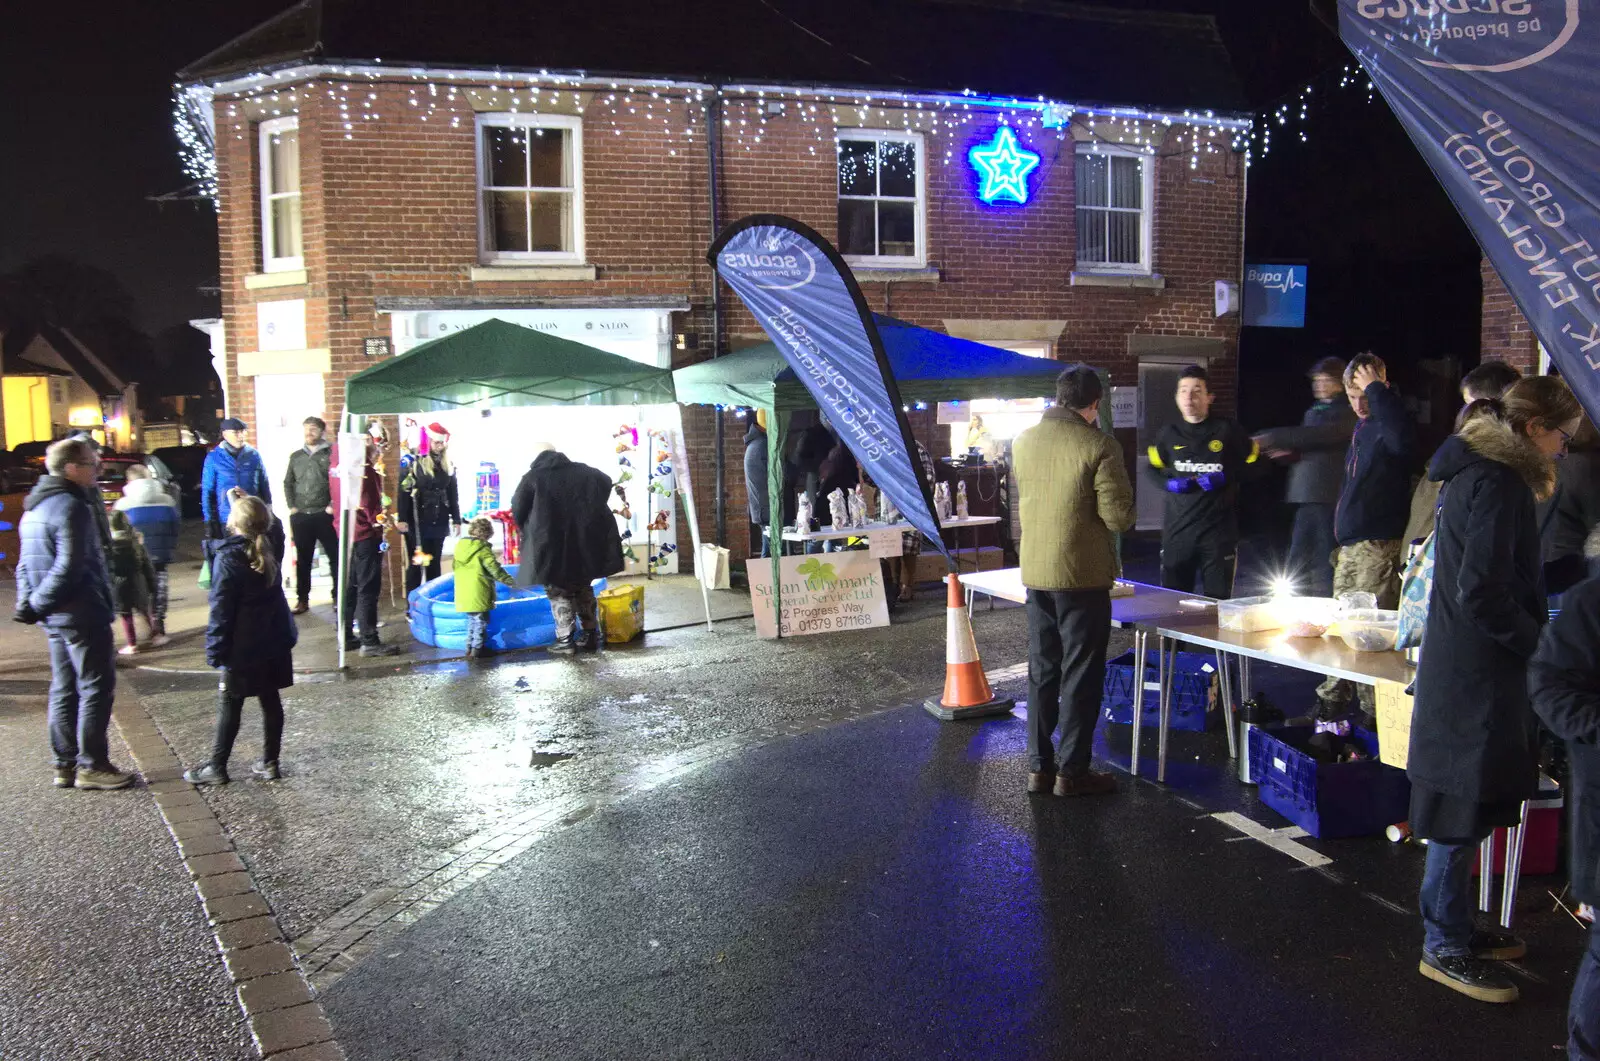
[[[546,446],[517,483],[510,514],[522,528],[517,584],[544,586],[555,616],[552,653],[600,647],[592,583],[622,570],[611,477]]]

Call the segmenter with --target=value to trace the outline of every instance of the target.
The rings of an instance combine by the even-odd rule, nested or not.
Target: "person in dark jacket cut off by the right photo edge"
[[[1566,789],[1573,896],[1600,904],[1600,579],[1589,579],[1562,600],[1528,666],[1533,711],[1566,741],[1571,784]],[[1600,928],[1589,928],[1589,949],[1578,967],[1566,1011],[1566,1056],[1600,1061]]]

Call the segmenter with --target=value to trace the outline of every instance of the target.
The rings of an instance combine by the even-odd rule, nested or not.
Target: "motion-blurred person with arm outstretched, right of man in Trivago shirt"
[[[1299,427],[1278,427],[1256,437],[1267,456],[1293,461],[1283,499],[1294,506],[1288,575],[1312,595],[1333,592],[1333,510],[1344,482],[1344,453],[1355,430],[1355,411],[1344,397],[1344,362],[1325,357],[1310,366],[1315,402]]]

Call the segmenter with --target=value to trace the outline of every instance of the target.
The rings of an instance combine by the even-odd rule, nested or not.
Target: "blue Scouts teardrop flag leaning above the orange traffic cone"
[[[933,483],[923,478],[883,339],[845,259],[810,227],[778,214],[733,222],[706,258],[782,350],[872,482],[949,562]]]

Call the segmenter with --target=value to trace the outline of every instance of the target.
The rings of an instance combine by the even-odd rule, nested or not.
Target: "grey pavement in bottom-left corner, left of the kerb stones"
[[[152,794],[50,786],[48,687],[0,663],[0,1058],[254,1058]]]

